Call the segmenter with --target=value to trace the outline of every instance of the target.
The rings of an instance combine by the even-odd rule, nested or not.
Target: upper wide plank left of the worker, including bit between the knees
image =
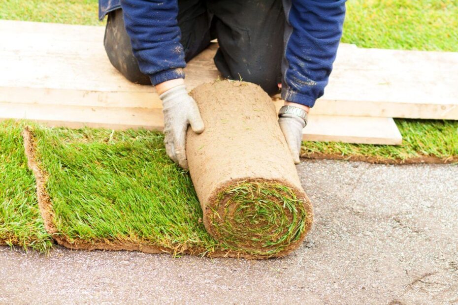
[[[103,27],[0,20],[0,101],[158,108],[152,86],[132,84],[109,62]],[[212,81],[216,44],[188,63],[188,90]]]

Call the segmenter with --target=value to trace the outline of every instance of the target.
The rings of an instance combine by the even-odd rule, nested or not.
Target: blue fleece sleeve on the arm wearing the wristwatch
[[[282,98],[313,107],[327,85],[342,35],[345,0],[283,0]]]

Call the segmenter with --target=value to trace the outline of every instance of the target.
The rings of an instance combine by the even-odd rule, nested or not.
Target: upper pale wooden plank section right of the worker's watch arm
[[[314,112],[458,119],[458,53],[339,49]]]

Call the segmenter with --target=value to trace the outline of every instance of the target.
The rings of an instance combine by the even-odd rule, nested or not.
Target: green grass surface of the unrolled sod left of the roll
[[[33,135],[61,238],[216,250],[191,179],[165,154],[161,133],[35,127]]]

